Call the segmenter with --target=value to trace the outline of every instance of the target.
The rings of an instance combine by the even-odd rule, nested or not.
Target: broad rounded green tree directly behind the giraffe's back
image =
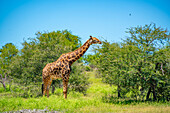
[[[81,41],[78,36],[64,30],[49,33],[38,32],[36,38],[29,38],[29,41],[24,41],[22,45],[20,54],[12,58],[10,75],[15,82],[18,81],[26,87],[31,84],[40,84],[42,69],[45,65],[56,61],[61,54],[77,49]],[[75,71],[78,69],[76,68]],[[86,87],[86,84],[82,87]]]

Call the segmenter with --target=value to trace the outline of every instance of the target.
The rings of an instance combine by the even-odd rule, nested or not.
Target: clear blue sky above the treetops
[[[0,48],[65,29],[82,43],[89,35],[120,42],[126,28],[151,22],[170,30],[170,0],[0,0]]]

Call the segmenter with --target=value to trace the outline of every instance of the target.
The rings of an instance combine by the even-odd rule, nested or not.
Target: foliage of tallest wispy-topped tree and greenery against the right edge
[[[170,63],[169,32],[156,27],[155,24],[138,26],[128,30],[127,33],[130,33],[131,37],[127,38],[125,43],[136,46],[141,51],[140,59],[138,58],[136,61],[138,64],[135,65],[135,69],[138,71],[136,74],[140,78],[140,86],[144,89],[150,86],[154,100],[160,99],[160,95],[161,98],[169,100],[170,93],[162,94],[162,92],[170,90],[168,77],[170,72],[167,66]],[[164,85],[161,85],[162,83]],[[164,90],[158,90],[160,86]]]

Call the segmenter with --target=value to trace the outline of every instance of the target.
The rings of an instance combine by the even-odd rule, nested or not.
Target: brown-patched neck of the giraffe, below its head
[[[81,56],[84,55],[84,53],[88,50],[90,47],[90,41],[87,40],[80,48],[74,50],[70,53],[70,62],[73,63],[77,61]]]

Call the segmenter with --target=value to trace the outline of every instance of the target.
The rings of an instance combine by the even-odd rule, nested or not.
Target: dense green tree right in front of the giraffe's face
[[[103,45],[98,49],[99,57],[96,59],[96,64],[102,80],[110,85],[117,86],[118,97],[124,97],[129,91],[135,92],[134,88],[137,79],[130,74],[135,73],[132,63],[135,63],[137,52],[139,49],[135,46],[125,44],[103,42]],[[127,90],[127,89],[128,90]]]

